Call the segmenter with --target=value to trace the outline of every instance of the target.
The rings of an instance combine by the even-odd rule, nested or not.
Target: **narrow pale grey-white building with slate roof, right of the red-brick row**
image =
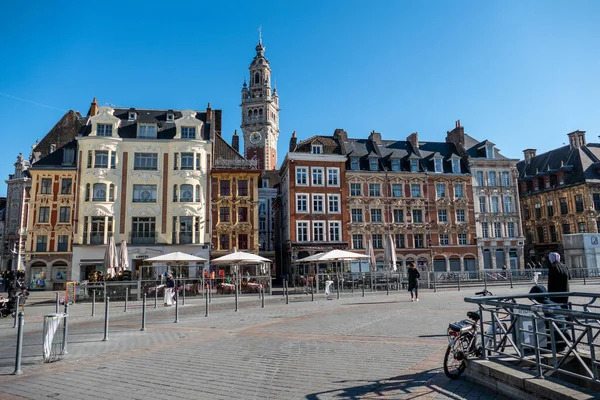
[[[500,154],[488,140],[465,134],[460,121],[446,136],[472,175],[477,265],[480,268],[524,267],[524,237],[517,189],[517,161]]]

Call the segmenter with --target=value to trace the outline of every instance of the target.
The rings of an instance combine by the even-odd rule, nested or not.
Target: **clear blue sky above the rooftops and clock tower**
[[[279,162],[292,131],[443,141],[457,119],[513,158],[575,129],[599,141],[597,1],[50,3],[3,5],[3,180],[19,152],[94,97],[210,102],[230,138],[259,26],[280,95]]]

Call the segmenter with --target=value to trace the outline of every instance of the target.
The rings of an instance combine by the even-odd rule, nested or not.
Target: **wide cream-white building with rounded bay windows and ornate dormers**
[[[209,104],[205,111],[96,107],[90,113],[78,137],[71,279],[101,269],[110,236],[127,241],[135,276],[145,258],[163,253],[209,258],[218,111]]]

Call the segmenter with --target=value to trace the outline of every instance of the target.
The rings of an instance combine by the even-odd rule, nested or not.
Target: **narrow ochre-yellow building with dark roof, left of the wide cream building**
[[[30,289],[64,290],[70,278],[76,204],[75,140],[28,169],[25,260]]]

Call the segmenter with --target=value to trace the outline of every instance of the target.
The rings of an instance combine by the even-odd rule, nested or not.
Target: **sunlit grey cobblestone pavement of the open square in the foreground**
[[[494,288],[496,294],[519,289]],[[600,286],[572,290],[600,292]],[[441,370],[448,322],[463,318],[476,289],[343,295],[339,300],[292,296],[219,298],[204,317],[204,301],[141,312],[111,306],[103,342],[103,306],[71,307],[69,354],[41,362],[42,316],[26,309],[23,374],[14,371],[16,329],[0,320],[0,400],[3,399],[500,399]]]

